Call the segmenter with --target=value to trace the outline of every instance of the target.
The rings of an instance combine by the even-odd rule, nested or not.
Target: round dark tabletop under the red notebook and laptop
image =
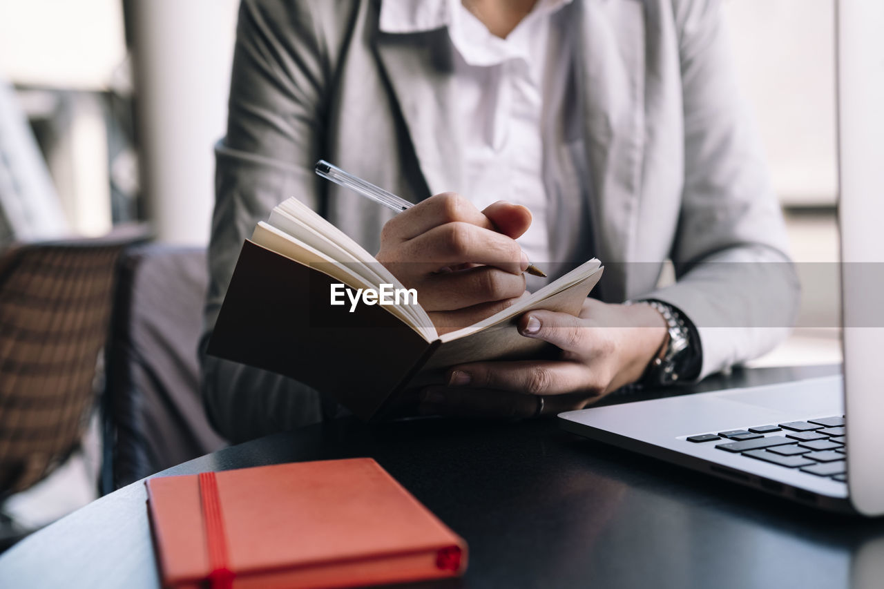
[[[837,370],[735,371],[692,390]],[[884,521],[818,513],[583,440],[560,431],[554,418],[374,427],[342,420],[225,448],[161,474],[350,456],[377,459],[467,539],[467,575],[445,586],[884,586]],[[141,483],[0,557],[4,588],[156,586]]]

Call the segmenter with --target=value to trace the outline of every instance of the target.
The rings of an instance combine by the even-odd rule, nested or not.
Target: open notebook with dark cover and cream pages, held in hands
[[[233,272],[209,353],[276,371],[379,417],[399,394],[441,382],[456,363],[537,356],[518,318],[534,309],[576,315],[601,277],[597,259],[476,324],[439,334],[415,303],[351,304],[343,291],[406,291],[374,256],[297,199],[255,227]],[[335,285],[345,304],[332,305]]]

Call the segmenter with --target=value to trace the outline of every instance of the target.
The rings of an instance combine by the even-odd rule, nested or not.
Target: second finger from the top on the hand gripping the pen
[[[433,227],[401,246],[400,259],[412,260],[412,273],[435,272],[441,267],[484,264],[511,274],[528,267],[522,248],[503,233],[460,221]]]

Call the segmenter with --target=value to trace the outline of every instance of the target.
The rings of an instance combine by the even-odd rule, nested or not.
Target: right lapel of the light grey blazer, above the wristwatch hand
[[[637,0],[585,0],[577,74],[588,152],[596,254],[608,301],[629,292],[644,150],[644,13]],[[618,264],[620,263],[620,264]]]

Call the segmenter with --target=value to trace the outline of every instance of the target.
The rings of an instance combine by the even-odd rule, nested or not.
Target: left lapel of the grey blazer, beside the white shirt
[[[462,186],[453,46],[446,28],[377,34],[377,55],[399,103],[430,194]],[[429,195],[428,195],[429,196]]]

